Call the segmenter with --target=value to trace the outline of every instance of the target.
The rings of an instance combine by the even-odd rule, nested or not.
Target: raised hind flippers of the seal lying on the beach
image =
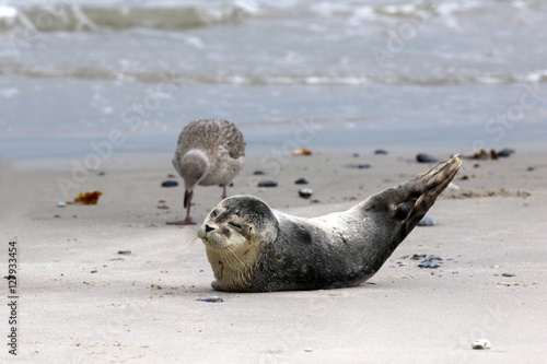
[[[461,165],[462,161],[455,155],[395,188],[397,198],[393,201],[396,204],[394,211],[395,216],[406,223],[401,232],[404,236],[426,215]]]

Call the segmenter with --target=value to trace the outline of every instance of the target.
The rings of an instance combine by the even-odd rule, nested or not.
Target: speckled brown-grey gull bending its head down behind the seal
[[[240,173],[245,162],[245,142],[241,131],[230,121],[200,119],[188,124],[178,137],[173,165],[185,185],[186,219],[170,225],[195,225],[190,218],[194,187],[220,185],[222,199],[226,186]]]

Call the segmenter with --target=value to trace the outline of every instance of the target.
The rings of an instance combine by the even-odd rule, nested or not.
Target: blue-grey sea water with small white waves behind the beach
[[[173,152],[198,118],[249,150],[547,138],[547,2],[0,0],[0,158]]]

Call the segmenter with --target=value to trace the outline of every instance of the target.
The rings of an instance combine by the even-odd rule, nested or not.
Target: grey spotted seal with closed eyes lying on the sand
[[[375,274],[459,169],[454,156],[344,212],[305,219],[253,196],[219,203],[198,230],[214,278],[232,292],[354,286]]]

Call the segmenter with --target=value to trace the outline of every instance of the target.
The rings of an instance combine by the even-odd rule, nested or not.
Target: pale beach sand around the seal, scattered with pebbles
[[[69,161],[4,163],[0,267],[4,275],[8,243],[15,240],[20,298],[18,356],[2,344],[0,362],[545,362],[544,154],[519,150],[497,162],[464,161],[454,180],[461,189],[445,191],[430,210],[437,225],[416,227],[369,282],[261,294],[214,292],[196,227],[165,224],[184,218],[183,186],[160,186],[175,173],[171,155],[103,161],[104,176],[91,173],[70,190],[70,198],[101,190],[98,203],[62,209],[56,179],[71,178]],[[252,155],[229,193],[251,192],[272,208],[318,215],[423,172],[428,166],[414,155],[323,152],[282,157],[279,171],[275,158]],[[359,163],[371,168],[351,167]],[[256,169],[279,187],[256,189]],[[311,181],[305,187],[317,201],[299,198],[293,181],[300,177]],[[194,218],[202,221],[220,195],[218,187],[198,187]],[[168,209],[158,208],[163,203]],[[403,258],[412,254],[440,256],[443,265],[420,269],[419,260]],[[214,294],[224,302],[196,301]],[[7,341],[9,312],[1,306]],[[472,350],[480,338],[491,349]]]

